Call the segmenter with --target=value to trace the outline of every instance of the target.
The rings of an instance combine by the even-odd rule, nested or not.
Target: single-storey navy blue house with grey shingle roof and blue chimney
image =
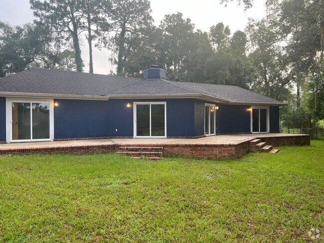
[[[236,86],[29,69],[0,79],[0,142],[279,132],[286,104]]]

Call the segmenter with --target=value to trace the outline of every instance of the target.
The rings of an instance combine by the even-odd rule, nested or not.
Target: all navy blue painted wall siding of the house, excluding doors
[[[166,101],[167,136],[204,135],[204,101],[167,100],[64,100],[55,99],[54,138],[134,135],[133,102]],[[132,104],[127,108],[127,103]],[[216,133],[250,132],[249,106],[222,105],[216,110]],[[0,141],[6,139],[5,97],[0,97]],[[270,107],[270,131],[279,131],[279,107]],[[117,129],[117,132],[116,132]]]

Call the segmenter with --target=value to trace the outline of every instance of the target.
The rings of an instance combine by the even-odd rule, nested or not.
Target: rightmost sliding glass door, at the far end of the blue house
[[[268,108],[252,108],[252,132],[268,132]]]

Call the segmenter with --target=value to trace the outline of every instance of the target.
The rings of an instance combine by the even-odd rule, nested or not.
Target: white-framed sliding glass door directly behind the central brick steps
[[[135,137],[166,137],[166,103],[135,103]]]

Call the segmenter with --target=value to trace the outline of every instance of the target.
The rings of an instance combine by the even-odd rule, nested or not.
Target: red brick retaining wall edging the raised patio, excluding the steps
[[[273,146],[310,145],[310,135],[259,137],[263,142]],[[0,148],[0,155],[5,154],[94,154],[119,151],[119,147],[163,147],[163,155],[177,155],[195,158],[233,159],[249,152],[249,140],[235,144],[103,144],[103,145],[68,145],[32,148]]]

